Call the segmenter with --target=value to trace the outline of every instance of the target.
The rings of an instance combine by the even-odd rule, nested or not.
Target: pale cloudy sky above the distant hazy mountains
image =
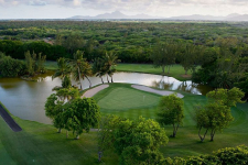
[[[127,15],[248,14],[248,0],[0,0],[0,19],[66,19],[120,11]]]

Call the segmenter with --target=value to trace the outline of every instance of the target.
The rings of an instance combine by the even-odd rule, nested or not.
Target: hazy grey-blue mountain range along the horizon
[[[104,13],[96,16],[84,16],[84,15],[75,15],[68,18],[72,20],[179,20],[179,21],[248,21],[248,14],[238,14],[233,13],[227,16],[213,16],[213,15],[201,15],[201,14],[193,14],[193,15],[182,15],[182,16],[151,16],[148,14],[137,14],[137,15],[126,15],[119,11],[115,11],[111,13]]]

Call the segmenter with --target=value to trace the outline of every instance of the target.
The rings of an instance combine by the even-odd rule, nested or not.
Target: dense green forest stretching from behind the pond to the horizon
[[[80,50],[89,62],[111,51],[123,63],[151,63],[150,55],[158,41],[173,40],[212,48],[218,47],[216,41],[219,37],[233,37],[239,41],[237,46],[242,48],[242,56],[247,56],[247,23],[3,21],[0,22],[2,38],[23,41],[29,47],[11,53],[6,52],[8,45],[12,46],[8,44],[0,51],[17,58],[30,50],[36,54],[42,52],[47,59],[55,61],[72,57],[76,50]],[[42,44],[39,40],[46,40],[52,45]]]

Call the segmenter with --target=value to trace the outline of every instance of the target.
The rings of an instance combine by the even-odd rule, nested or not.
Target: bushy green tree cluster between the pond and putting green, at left
[[[89,132],[97,127],[100,112],[99,107],[93,98],[79,98],[78,89],[62,88],[52,94],[45,102],[45,114],[53,120],[53,124],[58,129],[73,131],[76,139],[83,131]]]

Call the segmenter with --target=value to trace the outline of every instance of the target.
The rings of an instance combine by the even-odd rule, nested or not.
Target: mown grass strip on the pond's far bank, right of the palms
[[[152,64],[118,64],[117,70],[162,75],[162,68],[154,68]],[[168,74],[168,68],[165,68],[166,76],[174,77],[182,81],[191,79],[191,70],[188,70],[188,77],[183,77],[182,75],[184,74],[185,70],[181,65],[173,65],[170,69],[170,74]]]

